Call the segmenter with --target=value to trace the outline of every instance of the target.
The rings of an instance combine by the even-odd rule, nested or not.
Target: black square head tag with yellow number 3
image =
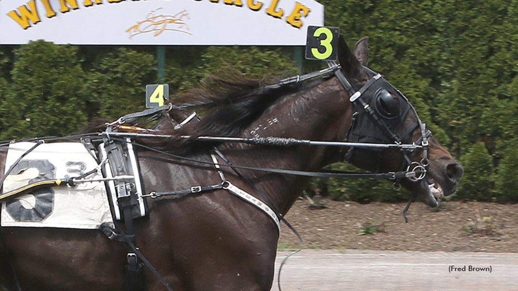
[[[340,28],[338,27],[308,26],[306,59],[336,61],[339,35]]]

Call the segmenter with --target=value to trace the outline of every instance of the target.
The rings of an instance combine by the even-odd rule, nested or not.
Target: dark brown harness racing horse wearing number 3
[[[370,80],[379,78],[364,67],[368,62],[366,39],[359,41],[352,53],[340,38],[339,61],[341,74],[353,88],[363,88]],[[304,86],[295,84],[265,90],[260,90],[259,82],[238,84],[220,81],[219,84],[226,88],[224,98],[217,99],[217,90],[196,91],[194,95],[212,98],[215,104],[224,104],[224,100],[234,101],[216,108],[198,122],[185,124],[177,130],[178,135],[369,140],[362,139],[364,135],[359,130],[362,122],[353,122],[353,113],[361,108],[353,106],[351,94],[344,90],[338,77]],[[406,98],[390,88],[386,90],[390,95],[385,91],[376,93],[380,90],[373,90],[376,92],[371,94],[379,95],[371,107],[377,104],[377,111],[386,117],[380,122],[389,126],[401,142],[424,144],[424,139],[426,148],[411,151],[405,157],[400,149],[393,148],[368,152],[368,149],[350,151],[351,148],[347,147],[207,144],[194,138],[181,142],[179,138],[171,138],[156,142],[154,147],[181,152],[190,159],[207,164],[137,147],[146,192],[221,184],[223,178],[214,170],[210,155],[212,147],[216,146],[233,165],[301,171],[319,170],[347,154],[349,161],[359,168],[394,172],[401,170],[401,165],[407,165],[405,160],[408,158],[410,163],[426,166],[426,177],[417,181],[402,178],[400,183],[412,192],[413,200],[435,207],[436,197],[450,195],[456,190],[463,168],[433,136],[421,130],[424,127],[419,126],[422,124],[413,107],[406,105]],[[369,90],[365,94],[365,100],[368,100]],[[410,106],[410,109],[405,109],[405,106]],[[170,124],[167,120],[170,119],[160,126],[164,133],[174,134],[175,129],[167,125]],[[391,120],[398,122],[392,126]],[[348,135],[355,126],[358,134]],[[148,146],[153,146],[153,142],[147,141]],[[5,148],[1,154],[0,167],[4,168]],[[214,156],[228,181],[226,185],[232,183],[264,200],[257,194],[258,190],[267,198],[270,207],[281,215],[289,211],[309,179],[242,168],[238,169],[238,174],[224,167],[227,164],[221,156]],[[136,245],[173,290],[258,291],[271,288],[279,229],[265,212],[227,189],[146,199],[149,215],[134,221]],[[0,228],[0,235],[0,290],[100,291],[131,287],[124,286],[126,245],[109,240],[101,231],[4,227]],[[166,289],[149,269],[146,269],[145,277],[144,289]]]

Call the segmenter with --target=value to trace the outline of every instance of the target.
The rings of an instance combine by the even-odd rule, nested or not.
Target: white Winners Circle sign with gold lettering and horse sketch
[[[297,45],[314,0],[0,0],[0,44]]]

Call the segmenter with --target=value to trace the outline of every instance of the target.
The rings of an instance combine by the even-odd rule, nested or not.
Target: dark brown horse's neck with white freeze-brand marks
[[[248,127],[245,137],[343,140],[351,124],[351,104],[336,78],[279,100]],[[328,147],[224,147],[237,165],[315,171],[338,155]],[[285,214],[309,181],[307,177],[246,172],[256,186]]]

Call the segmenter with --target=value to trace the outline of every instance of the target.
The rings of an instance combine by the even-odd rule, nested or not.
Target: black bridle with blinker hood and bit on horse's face
[[[327,62],[329,67],[339,66],[334,62]],[[421,119],[419,119],[415,108],[409,103],[408,99],[391,83],[386,81],[380,74],[364,67],[365,72],[369,76],[369,80],[359,90],[355,90],[343,75],[341,70],[334,72],[343,88],[349,93],[349,100],[353,104],[353,121],[344,141],[350,142],[393,142],[403,144],[405,137],[410,139],[416,129],[421,132],[421,137],[413,144],[420,144],[423,149],[423,158],[421,162],[412,162],[408,156],[407,150],[401,150],[404,157],[400,170],[414,171],[416,176],[407,177],[413,182],[424,179],[426,169],[428,167],[428,137],[431,135],[430,130],[426,129]],[[398,136],[396,130],[402,126],[409,112],[413,112],[416,118],[416,124],[412,126],[405,134]],[[345,161],[349,161],[353,155],[379,155],[382,149],[357,149],[350,147],[347,153],[343,155]],[[366,154],[365,154],[366,153]],[[379,163],[377,163],[379,166]],[[394,179],[395,187],[400,186],[400,178]]]

